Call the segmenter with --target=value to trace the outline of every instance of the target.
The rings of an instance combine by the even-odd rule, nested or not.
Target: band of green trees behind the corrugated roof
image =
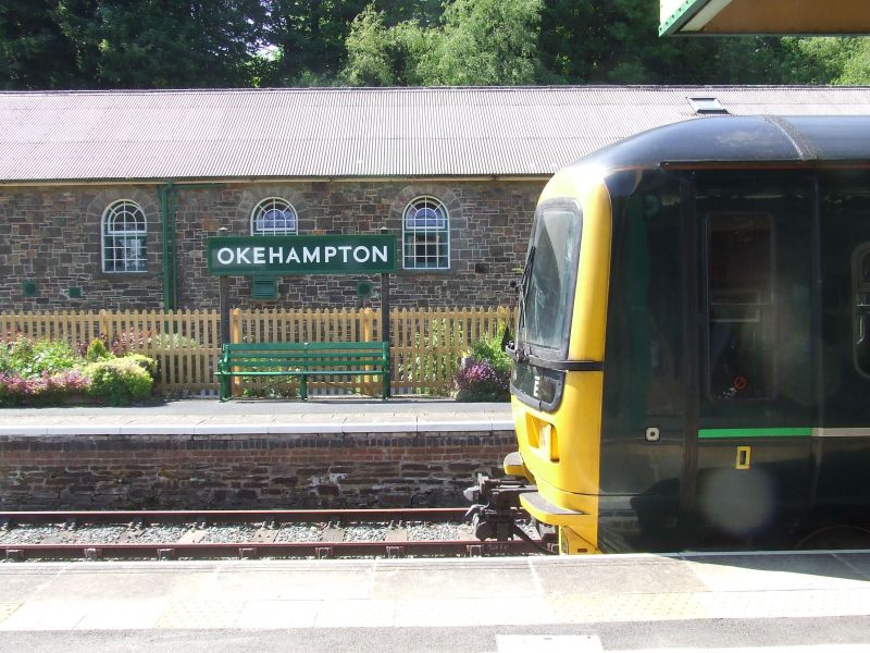
[[[0,2],[0,88],[868,84],[868,37],[660,38],[650,0]]]

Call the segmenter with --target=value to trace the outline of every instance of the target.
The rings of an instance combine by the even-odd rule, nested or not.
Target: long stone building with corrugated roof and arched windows
[[[550,174],[714,113],[867,114],[870,89],[0,93],[0,310],[215,308],[211,236],[382,230],[394,305],[504,305]],[[232,278],[231,299],[352,307],[359,281],[283,276],[258,299]]]

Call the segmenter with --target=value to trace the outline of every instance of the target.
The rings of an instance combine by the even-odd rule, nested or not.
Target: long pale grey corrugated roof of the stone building
[[[0,181],[549,175],[652,127],[870,115],[860,87],[320,88],[0,93]]]

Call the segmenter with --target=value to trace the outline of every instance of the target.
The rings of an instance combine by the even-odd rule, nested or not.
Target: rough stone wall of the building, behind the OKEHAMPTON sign
[[[217,307],[217,279],[208,275],[206,266],[207,238],[217,235],[220,227],[226,227],[227,235],[249,235],[252,209],[270,196],[294,205],[299,234],[377,233],[386,227],[400,242],[405,207],[420,195],[433,195],[449,212],[450,269],[400,270],[391,283],[394,306],[507,305],[513,299],[508,283],[522,267],[543,185],[536,181],[177,185],[179,308]],[[0,306],[14,311],[162,308],[160,188],[154,184],[0,189]],[[101,272],[102,212],[122,198],[136,201],[148,220],[146,273]],[[25,281],[37,283],[38,296],[23,296]],[[278,283],[277,301],[252,300],[246,278],[232,278],[229,287],[234,306],[350,308],[358,305],[357,281],[286,276]],[[71,287],[80,287],[83,297],[67,298],[64,293]]]

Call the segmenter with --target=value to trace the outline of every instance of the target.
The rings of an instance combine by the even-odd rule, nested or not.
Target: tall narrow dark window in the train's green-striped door
[[[707,390],[711,399],[773,396],[773,264],[772,215],[708,215]]]

